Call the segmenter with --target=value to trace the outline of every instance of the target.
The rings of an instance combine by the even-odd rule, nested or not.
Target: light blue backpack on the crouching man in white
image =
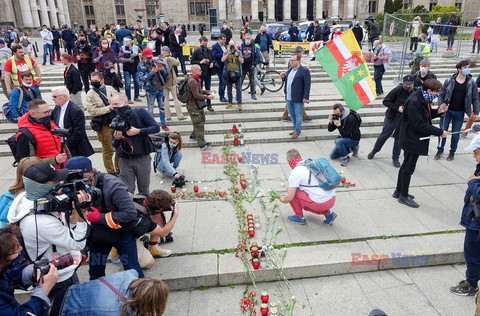
[[[305,166],[310,171],[310,175],[308,176],[308,184],[310,184],[313,174],[320,183],[319,187],[324,190],[333,190],[340,184],[340,181],[342,181],[342,176],[325,158],[318,158],[316,160],[308,158],[303,162],[299,162],[297,166]],[[317,187],[316,185],[300,186]]]

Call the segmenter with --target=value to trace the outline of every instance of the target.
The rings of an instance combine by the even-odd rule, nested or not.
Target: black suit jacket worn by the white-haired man
[[[61,108],[59,106],[53,109],[51,119],[54,122],[58,122],[60,110]],[[67,110],[63,118],[63,125],[67,129],[72,129],[72,134],[67,138],[67,147],[72,157],[88,157],[93,155],[94,150],[85,131],[85,115],[83,114],[83,110],[72,101],[68,102]]]

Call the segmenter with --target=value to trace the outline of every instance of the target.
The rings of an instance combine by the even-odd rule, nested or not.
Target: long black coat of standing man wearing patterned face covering
[[[420,140],[420,137],[442,135],[443,130],[432,125],[432,119],[440,116],[438,110],[429,108],[420,89],[413,92],[405,102],[399,134],[400,148],[404,151],[426,156],[430,140]]]

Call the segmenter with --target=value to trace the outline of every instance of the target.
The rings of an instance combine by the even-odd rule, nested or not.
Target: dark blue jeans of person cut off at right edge
[[[480,280],[480,240],[478,240],[478,230],[465,230],[465,240],[463,242],[463,255],[467,264],[465,276],[468,283],[477,286]]]

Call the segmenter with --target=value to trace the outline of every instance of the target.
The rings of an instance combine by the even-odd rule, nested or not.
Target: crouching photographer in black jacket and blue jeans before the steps
[[[335,147],[330,153],[330,159],[342,158],[342,166],[350,163],[348,154],[353,152],[353,156],[358,154],[358,144],[360,142],[360,124],[361,119],[355,111],[337,103],[333,106],[333,113],[328,116],[328,131],[333,132],[338,129],[340,136],[335,139]]]

